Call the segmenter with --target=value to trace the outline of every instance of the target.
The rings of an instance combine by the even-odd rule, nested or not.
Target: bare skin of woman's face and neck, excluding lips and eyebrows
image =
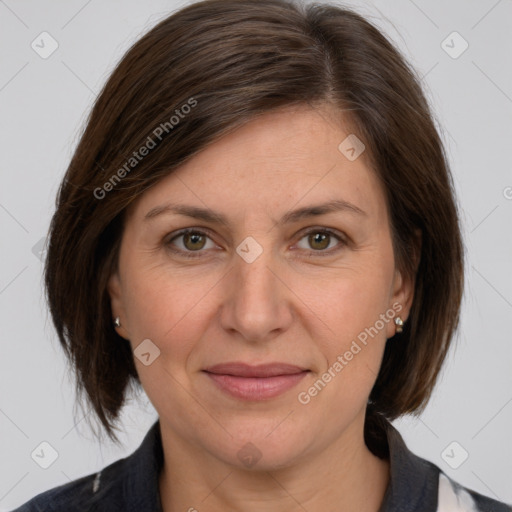
[[[134,349],[149,338],[160,350],[148,366],[135,362],[160,418],[165,512],[376,512],[383,500],[389,464],[368,450],[363,425],[393,321],[307,405],[298,401],[361,331],[394,303],[405,321],[412,302],[414,283],[395,267],[384,190],[365,153],[349,161],[338,150],[349,133],[327,109],[267,113],[194,156],[128,212],[109,293],[118,333]],[[332,199],[366,215],[277,223]],[[170,213],[144,220],[166,202],[207,207],[229,225]],[[182,228],[206,238],[171,242]],[[319,228],[346,243],[334,235],[311,241]],[[247,236],[263,249],[252,263],[236,252]],[[287,362],[310,373],[280,396],[248,402],[201,371],[228,361]],[[237,457],[248,442],[261,454],[250,468]]]

